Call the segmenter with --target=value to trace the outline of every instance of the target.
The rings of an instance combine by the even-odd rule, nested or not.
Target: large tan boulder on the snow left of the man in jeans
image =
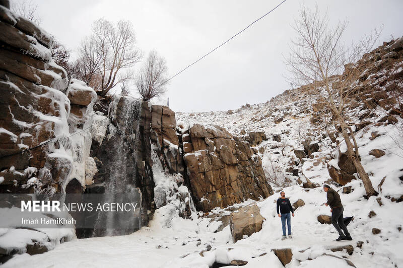
[[[265,219],[260,215],[259,207],[256,204],[240,208],[233,212],[230,217],[230,230],[234,243],[261,230]]]

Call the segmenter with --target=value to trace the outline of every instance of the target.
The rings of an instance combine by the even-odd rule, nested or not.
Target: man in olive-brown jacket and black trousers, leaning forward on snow
[[[325,203],[325,206],[330,206],[331,223],[339,232],[339,238],[336,239],[336,241],[353,240],[349,231],[347,230],[346,224],[343,221],[344,208],[342,205],[342,200],[340,200],[340,195],[326,184],[323,185],[323,190],[327,195],[327,202]],[[342,229],[344,233],[342,232]]]

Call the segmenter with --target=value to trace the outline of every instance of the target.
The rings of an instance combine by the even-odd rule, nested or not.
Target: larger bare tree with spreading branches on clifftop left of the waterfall
[[[103,18],[98,19],[92,25],[91,36],[81,44],[76,62],[78,77],[92,84],[98,95],[105,96],[118,83],[133,78],[131,72],[123,70],[141,58],[135,44],[136,36],[129,21],[113,25]]]

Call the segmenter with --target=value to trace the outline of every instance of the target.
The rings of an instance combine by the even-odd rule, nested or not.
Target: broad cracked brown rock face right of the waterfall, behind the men
[[[198,209],[209,211],[273,194],[260,157],[240,137],[219,126],[194,124],[182,131],[182,141]]]

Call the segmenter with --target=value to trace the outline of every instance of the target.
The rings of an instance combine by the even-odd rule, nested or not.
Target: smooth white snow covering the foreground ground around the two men
[[[338,234],[333,226],[320,224],[316,217],[329,215],[329,208],[322,205],[326,201],[321,188],[305,192],[299,186],[285,190],[291,203],[302,199],[305,206],[299,207],[292,218],[293,239],[281,240],[281,223],[276,213],[275,194],[258,202],[262,216],[266,219],[260,232],[246,239],[232,242],[229,226],[221,232],[216,222],[207,218],[184,220],[174,218],[170,228],[164,228],[165,207],[157,210],[155,219],[149,227],[126,236],[75,239],[58,245],[54,250],[30,256],[17,255],[4,267],[209,267],[213,262],[229,263],[233,259],[248,261],[245,267],[283,267],[271,249],[291,248],[294,258],[287,267],[299,265],[313,267],[325,261],[322,253],[348,256],[357,267],[393,267],[403,263],[400,248],[403,237],[397,227],[401,227],[403,210],[401,204],[382,198],[380,207],[375,197],[365,200],[364,190],[359,181],[351,183],[354,192],[342,194],[345,216],[354,216],[348,229],[353,241],[334,241]],[[245,202],[244,205],[250,203]],[[347,205],[346,205],[347,204]],[[368,218],[369,211],[376,216]],[[216,210],[218,212],[219,210]],[[373,227],[382,232],[373,235]],[[362,249],[356,247],[364,241]],[[351,244],[354,253],[349,256],[345,251],[331,252],[329,248]],[[211,246],[210,251],[199,253]],[[303,253],[298,251],[305,250]],[[266,254],[264,254],[266,253]],[[261,254],[264,254],[260,256]],[[320,259],[316,259],[320,257]],[[298,259],[303,260],[299,262]],[[313,260],[308,260],[308,258]],[[328,267],[349,267],[344,261],[331,258]],[[319,264],[318,264],[319,263]],[[315,266],[314,266],[315,267]],[[318,266],[320,267],[320,266]]]

